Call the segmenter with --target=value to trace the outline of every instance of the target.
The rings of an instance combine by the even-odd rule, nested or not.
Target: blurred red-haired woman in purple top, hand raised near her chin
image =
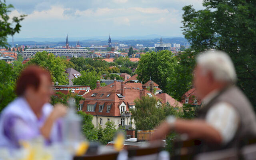
[[[51,75],[39,66],[28,66],[22,71],[16,85],[16,98],[0,115],[0,147],[19,148],[20,140],[43,136],[46,144],[60,142],[59,118],[66,107],[50,102],[53,94]]]

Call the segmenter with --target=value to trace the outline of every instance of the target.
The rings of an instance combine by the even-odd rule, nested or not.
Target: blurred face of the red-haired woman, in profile
[[[53,94],[52,84],[46,75],[41,75],[40,85],[34,92],[34,97],[38,103],[44,105],[50,102],[50,97]]]

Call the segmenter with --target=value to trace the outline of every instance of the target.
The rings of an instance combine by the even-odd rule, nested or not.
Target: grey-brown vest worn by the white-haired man
[[[204,148],[204,151],[240,147],[245,141],[256,137],[256,118],[254,110],[244,93],[236,86],[229,86],[223,89],[217,96],[208,102],[208,104],[204,104],[198,112],[198,118],[205,119],[208,110],[218,102],[227,102],[231,104],[239,114],[240,123],[234,138],[226,146],[220,148],[206,147],[207,149]]]

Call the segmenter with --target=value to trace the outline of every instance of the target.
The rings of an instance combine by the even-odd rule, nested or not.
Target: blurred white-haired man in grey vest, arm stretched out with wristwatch
[[[256,118],[249,100],[236,87],[236,72],[230,57],[221,51],[200,54],[194,70],[194,86],[202,106],[198,118],[182,120],[169,116],[158,126],[152,140],[168,132],[186,134],[206,142],[204,151],[238,147],[256,135]],[[215,144],[208,147],[208,144]],[[212,146],[212,145],[211,145]]]

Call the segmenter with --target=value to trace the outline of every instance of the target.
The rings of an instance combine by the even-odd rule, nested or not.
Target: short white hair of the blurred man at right
[[[221,82],[236,82],[236,71],[231,58],[225,52],[208,50],[196,58],[197,64],[202,68],[202,74],[212,72],[214,79]]]

